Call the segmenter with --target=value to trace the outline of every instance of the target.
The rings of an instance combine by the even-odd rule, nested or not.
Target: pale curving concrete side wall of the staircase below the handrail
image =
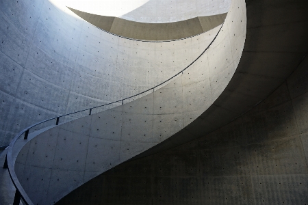
[[[175,135],[207,110],[231,80],[244,47],[245,2],[234,1],[234,5],[230,12],[236,10],[237,15],[227,15],[214,43],[173,81],[142,98],[66,122],[29,141],[29,148],[23,149],[29,150],[27,159],[18,160],[18,165],[24,166],[20,181],[34,203],[54,204],[91,178]],[[229,32],[233,26],[242,40]],[[235,39],[238,44],[231,44]],[[161,45],[173,46],[172,42]],[[49,141],[51,132],[57,134],[46,148],[38,140]],[[44,183],[38,180],[40,175],[26,180],[27,173],[44,170],[51,173]]]

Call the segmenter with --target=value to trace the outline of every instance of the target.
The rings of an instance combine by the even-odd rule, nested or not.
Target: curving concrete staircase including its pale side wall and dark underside
[[[60,122],[66,115],[52,118],[55,125],[41,122],[45,128],[32,133],[38,124],[21,131],[7,148],[4,163],[17,189],[14,204],[20,198],[25,204],[55,204],[108,169],[207,135],[266,98],[296,66],[283,72],[277,64],[272,70],[251,69],[253,49],[266,51],[252,38],[268,34],[251,23],[259,20],[252,8],[262,8],[256,2],[247,2],[246,23],[246,3],[233,0],[219,31],[209,31],[216,36],[207,49],[183,72],[141,98],[118,100],[122,105],[104,111],[88,109],[85,117],[70,122]],[[287,49],[296,53],[298,48]],[[305,44],[298,50],[301,56],[307,52]],[[271,60],[277,62],[275,56]]]

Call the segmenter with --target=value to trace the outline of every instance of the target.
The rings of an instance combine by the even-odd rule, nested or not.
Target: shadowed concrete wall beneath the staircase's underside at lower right
[[[307,204],[307,67],[305,57],[268,98],[217,131],[118,165],[57,204]]]

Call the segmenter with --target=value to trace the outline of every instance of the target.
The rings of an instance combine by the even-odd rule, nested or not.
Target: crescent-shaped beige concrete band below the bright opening
[[[69,8],[88,23],[118,36],[137,40],[177,40],[196,36],[221,25],[227,13],[198,16],[172,23],[139,23],[112,16],[99,16]]]

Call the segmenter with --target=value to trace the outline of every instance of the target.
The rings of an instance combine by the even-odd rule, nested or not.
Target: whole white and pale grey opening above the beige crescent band
[[[226,13],[231,0],[53,0],[97,16],[116,16],[140,23],[172,23]]]

